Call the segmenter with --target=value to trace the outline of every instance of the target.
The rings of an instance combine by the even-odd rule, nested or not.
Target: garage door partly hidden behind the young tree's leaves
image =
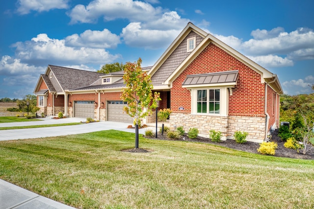
[[[107,120],[133,123],[133,118],[123,112],[124,106],[127,106],[127,102],[108,101],[107,102]]]

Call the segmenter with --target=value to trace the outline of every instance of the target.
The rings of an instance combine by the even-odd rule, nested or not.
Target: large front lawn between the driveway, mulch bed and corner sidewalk
[[[0,141],[0,178],[84,209],[314,208],[314,161],[114,130]]]

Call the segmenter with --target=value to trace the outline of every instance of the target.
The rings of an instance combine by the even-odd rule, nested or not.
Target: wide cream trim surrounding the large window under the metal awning
[[[220,113],[197,113],[197,90],[207,90],[209,94],[210,89],[220,89]],[[227,87],[208,87],[191,89],[191,114],[192,115],[206,115],[206,116],[227,116],[228,115],[228,88]]]

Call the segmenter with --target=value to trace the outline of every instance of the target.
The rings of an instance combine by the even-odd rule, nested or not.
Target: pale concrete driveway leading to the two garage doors
[[[56,123],[73,123],[73,122],[85,122],[86,118],[69,117],[61,119],[52,119],[51,117],[40,118],[40,121],[27,121],[27,122],[12,122],[12,123],[0,123],[0,127],[11,126],[30,126],[30,125],[46,125]],[[119,130],[135,133],[135,129],[128,129],[130,123],[114,122],[114,121],[100,121],[92,123],[82,123],[79,125],[71,126],[56,126],[47,128],[27,128],[27,129],[13,129],[13,130],[1,130],[0,141],[3,140],[15,140],[15,139],[33,139],[43,137],[57,137],[72,134],[83,134],[94,131],[104,130]],[[140,134],[145,134],[145,128],[139,129]]]

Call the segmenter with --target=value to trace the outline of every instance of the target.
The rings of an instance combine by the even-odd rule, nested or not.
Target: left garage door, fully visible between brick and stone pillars
[[[75,117],[94,118],[94,101],[74,101]]]

